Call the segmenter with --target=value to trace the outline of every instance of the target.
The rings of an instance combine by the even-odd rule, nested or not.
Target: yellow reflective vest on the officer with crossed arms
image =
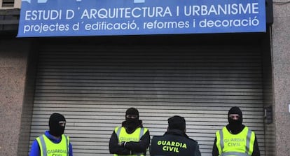
[[[127,134],[125,127],[116,127],[115,128],[115,133],[118,136],[118,142],[129,142],[129,141],[134,141],[134,142],[139,142],[141,137],[148,131],[148,129],[144,127],[139,127],[137,128],[132,134]],[[135,153],[134,156],[143,156],[143,153]],[[118,156],[114,154],[114,156]],[[131,155],[133,156],[133,155]]]

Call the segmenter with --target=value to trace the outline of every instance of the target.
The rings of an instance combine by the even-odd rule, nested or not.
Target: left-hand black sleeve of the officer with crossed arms
[[[116,155],[130,155],[130,150],[125,148],[123,145],[119,145],[118,136],[115,132],[112,133],[110,138],[109,151],[111,154]]]

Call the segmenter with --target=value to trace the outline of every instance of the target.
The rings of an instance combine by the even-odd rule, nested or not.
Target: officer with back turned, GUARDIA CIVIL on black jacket
[[[186,135],[186,121],[174,115],[168,119],[167,132],[163,136],[153,136],[151,156],[200,156],[198,142]]]

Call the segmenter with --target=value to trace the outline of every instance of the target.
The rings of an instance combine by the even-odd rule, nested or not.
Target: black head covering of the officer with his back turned
[[[185,119],[179,115],[174,115],[173,117],[168,119],[168,129],[179,129],[185,132],[186,129]]]

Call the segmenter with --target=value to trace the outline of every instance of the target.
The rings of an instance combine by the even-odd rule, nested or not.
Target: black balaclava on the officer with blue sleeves
[[[60,125],[60,121],[66,121],[60,113],[53,113],[49,118],[49,133],[53,136],[62,136],[64,134],[65,125]]]

